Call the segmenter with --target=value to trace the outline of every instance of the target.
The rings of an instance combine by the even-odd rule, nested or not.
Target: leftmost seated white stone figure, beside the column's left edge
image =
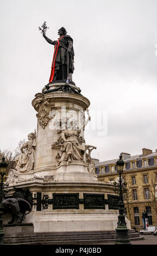
[[[29,133],[28,140],[21,147],[22,154],[15,159],[17,162],[15,169],[20,172],[28,172],[34,169],[36,133]]]

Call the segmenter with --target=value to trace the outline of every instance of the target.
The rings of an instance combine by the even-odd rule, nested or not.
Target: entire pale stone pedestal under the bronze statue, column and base
[[[37,93],[32,105],[37,112],[34,169],[11,171],[8,179],[10,194],[13,186],[30,187],[33,194],[32,212],[24,222],[33,223],[34,232],[114,230],[118,210],[109,208],[108,200],[114,186],[97,181],[86,154],[84,112],[90,101],[74,83],[55,82]],[[70,139],[64,137],[67,120],[76,125]]]

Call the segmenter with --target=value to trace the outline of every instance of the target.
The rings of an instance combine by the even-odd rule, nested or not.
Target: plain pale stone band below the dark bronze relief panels
[[[86,212],[71,211],[58,213],[30,214],[27,218],[34,223],[34,232],[106,231],[117,227],[117,211]],[[130,221],[126,220],[127,227]]]

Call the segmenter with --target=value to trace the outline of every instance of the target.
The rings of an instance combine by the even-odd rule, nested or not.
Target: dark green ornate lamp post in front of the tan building
[[[128,228],[125,222],[125,216],[124,216],[124,203],[123,203],[123,194],[122,194],[122,173],[123,173],[123,166],[124,161],[122,160],[122,156],[120,156],[120,159],[117,161],[117,172],[119,173],[120,179],[119,179],[119,195],[120,199],[118,202],[119,206],[119,216],[118,216],[118,223],[117,223],[117,239],[115,242],[115,245],[130,245],[130,240],[128,237]]]

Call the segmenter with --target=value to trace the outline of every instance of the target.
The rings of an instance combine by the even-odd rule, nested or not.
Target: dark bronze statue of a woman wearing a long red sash
[[[47,38],[44,30],[42,30],[41,33],[49,44],[54,45],[49,83],[56,80],[64,80],[67,83],[72,81],[72,74],[74,70],[73,39],[70,35],[67,35],[64,27],[59,29],[59,38],[56,41],[52,41],[51,39]]]

